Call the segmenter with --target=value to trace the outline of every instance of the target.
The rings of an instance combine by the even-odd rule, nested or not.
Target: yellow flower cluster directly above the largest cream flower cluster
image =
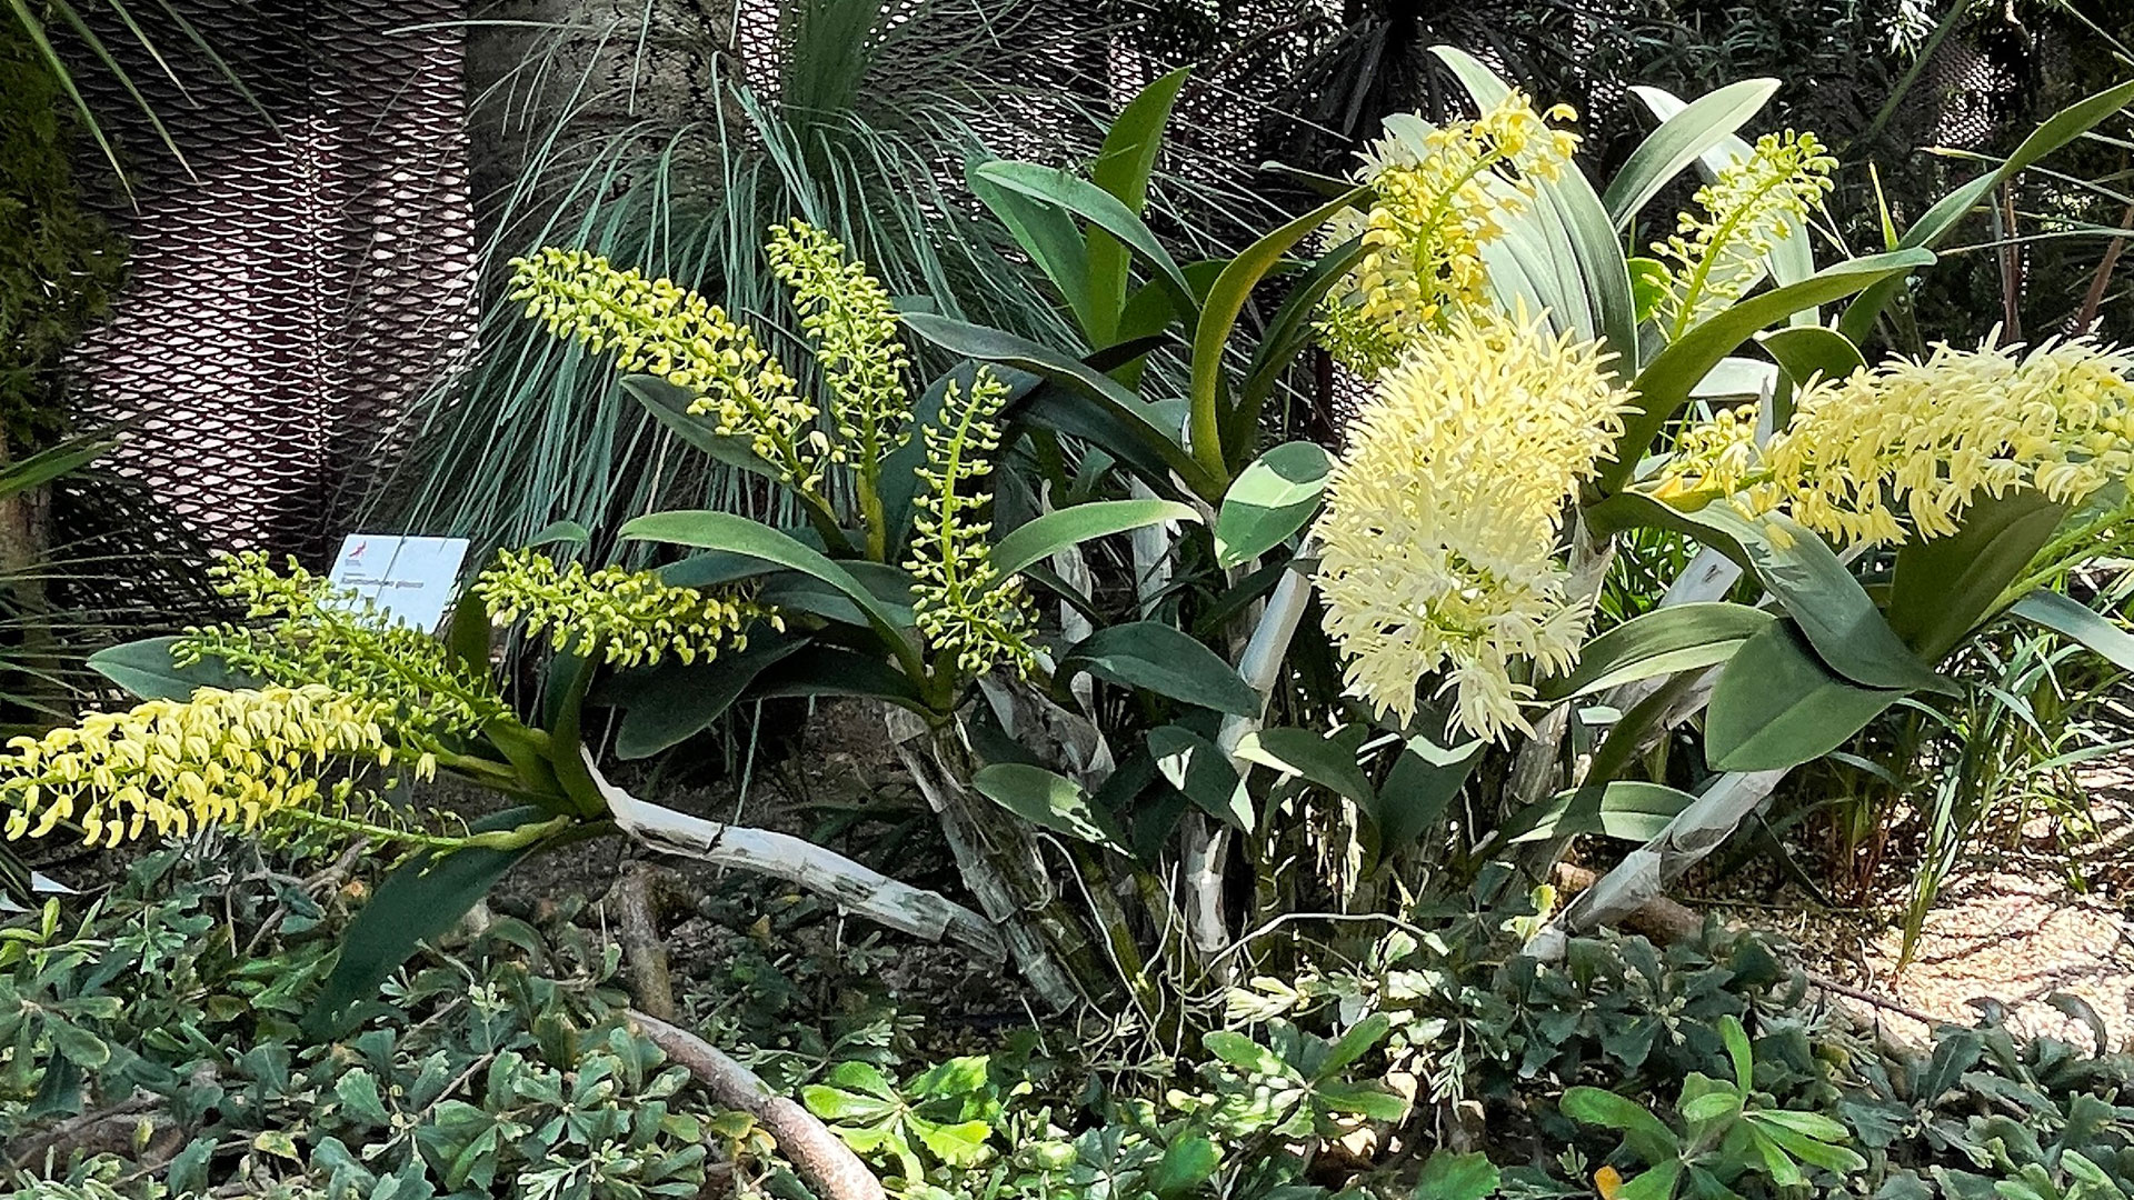
[[[1428,128],[1411,117],[1364,154],[1357,181],[1376,199],[1327,226],[1332,243],[1364,239],[1364,258],[1319,314],[1321,342],[1342,365],[1379,374],[1417,337],[1487,303],[1483,246],[1539,181],[1571,169],[1579,139],[1549,122],[1573,115],[1566,105],[1536,113],[1511,92],[1472,122]]]

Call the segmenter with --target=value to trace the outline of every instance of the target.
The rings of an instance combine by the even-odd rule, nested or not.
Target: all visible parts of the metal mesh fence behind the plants
[[[747,79],[775,83],[779,0],[743,0],[732,21],[702,2],[666,2],[676,21],[732,30]],[[403,406],[472,348],[476,205],[465,36],[452,23],[467,2],[177,6],[239,64],[256,100],[205,64],[177,62],[184,94],[154,64],[132,64],[152,105],[169,115],[190,175],[169,154],[152,154],[154,135],[139,117],[130,122],[124,135],[139,173],[139,211],[124,216],[134,239],[132,280],[115,320],[83,346],[90,416],[139,421],[117,465],[211,542],[312,551],[350,519],[388,463],[388,431],[403,427]],[[636,0],[555,0],[529,13],[583,17],[610,6],[638,11]],[[890,4],[892,19],[926,11],[922,0]],[[1276,102],[1285,90],[1287,100],[1297,98],[1291,83],[1300,64],[1342,26],[1342,6],[1323,0],[1031,11],[1014,36],[1044,47],[1046,77],[982,130],[994,149],[1054,154],[1063,139],[1037,130],[1086,124],[1090,111],[1122,102],[1169,64],[1195,60],[1174,120],[1174,137],[1193,149],[1180,160],[1238,171],[1208,179],[1210,192],[1295,149],[1300,126]],[[1577,38],[1588,26],[1566,28],[1577,34],[1571,51],[1586,53]],[[497,75],[497,64],[474,66],[482,85]],[[1622,100],[1620,79],[1579,70],[1590,85],[1586,100]],[[715,88],[706,62],[694,58],[662,79],[676,90],[676,105],[700,102]],[[1927,79],[1908,105],[1916,107],[1908,126],[1923,139],[1982,147],[2036,117],[2017,102],[2029,81],[2004,47],[1950,38]],[[132,105],[109,83],[107,92],[100,109],[128,124]],[[941,169],[960,173],[960,164]],[[1338,399],[1329,384],[1319,384],[1323,401]],[[1321,421],[1332,421],[1334,408]]]

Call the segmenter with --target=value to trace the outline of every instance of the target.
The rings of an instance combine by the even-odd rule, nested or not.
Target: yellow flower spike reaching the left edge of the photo
[[[318,683],[147,700],[124,713],[90,713],[45,737],[17,737],[0,754],[6,835],[45,837],[73,822],[83,839],[117,846],[154,828],[184,835],[203,824],[258,828],[320,801],[335,760],[386,767],[393,747],[378,705]],[[416,775],[435,764],[416,762]],[[329,788],[346,801],[354,784]]]

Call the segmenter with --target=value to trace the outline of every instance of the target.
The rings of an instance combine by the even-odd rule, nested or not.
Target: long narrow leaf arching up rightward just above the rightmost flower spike
[[[1803,307],[1848,297],[1876,280],[1899,275],[1927,263],[1933,263],[1933,254],[1927,250],[1897,250],[1893,254],[1852,258],[1816,271],[1799,284],[1756,293],[1692,327],[1637,374],[1633,382],[1637,395],[1630,401],[1630,414],[1624,419],[1622,440],[1615,442],[1615,461],[1600,476],[1603,487],[1615,491],[1630,478],[1637,459],[1690,397],[1697,382],[1758,329],[1775,325]]]

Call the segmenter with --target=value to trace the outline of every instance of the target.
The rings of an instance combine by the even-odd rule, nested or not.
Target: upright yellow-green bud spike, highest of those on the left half
[[[905,391],[903,342],[890,293],[866,273],[866,263],[845,260],[845,246],[802,222],[770,226],[764,248],[770,271],[792,288],[800,331],[815,346],[824,380],[837,404],[839,461],[849,457],[871,470],[911,438],[911,395]]]

